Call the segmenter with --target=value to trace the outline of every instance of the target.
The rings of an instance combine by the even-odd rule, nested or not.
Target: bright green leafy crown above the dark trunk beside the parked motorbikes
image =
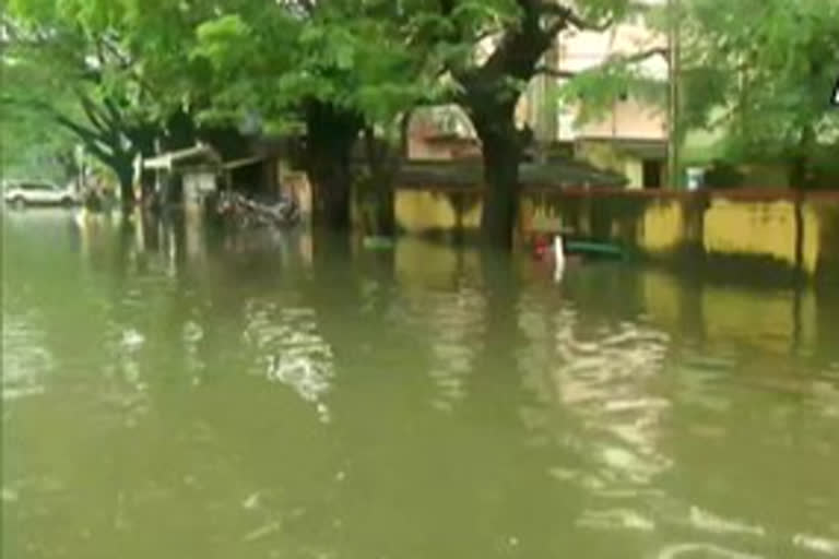
[[[258,111],[282,129],[318,100],[389,122],[439,87],[403,32],[393,2],[225,11],[198,26],[192,58],[212,68],[214,118]]]

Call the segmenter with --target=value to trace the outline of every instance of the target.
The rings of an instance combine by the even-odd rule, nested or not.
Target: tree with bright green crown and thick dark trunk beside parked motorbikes
[[[400,3],[221,4],[220,13],[198,27],[193,51],[214,70],[208,115],[251,114],[265,131],[303,132],[316,218],[346,227],[351,156],[362,132],[392,131],[437,88],[423,72],[422,52],[402,32]]]

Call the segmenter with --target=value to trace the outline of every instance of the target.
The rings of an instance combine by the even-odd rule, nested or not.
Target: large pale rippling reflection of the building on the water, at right
[[[567,307],[571,307],[568,305]],[[564,484],[576,484],[589,496],[577,525],[600,530],[655,528],[647,510],[661,495],[658,478],[673,467],[661,449],[661,425],[671,402],[657,396],[652,383],[664,370],[665,333],[631,322],[589,324],[581,310],[556,313],[551,328],[554,347],[543,366],[524,364],[522,370],[543,371],[544,386],[554,406],[565,412],[558,444],[575,456],[550,468]],[[574,429],[568,429],[568,424]]]

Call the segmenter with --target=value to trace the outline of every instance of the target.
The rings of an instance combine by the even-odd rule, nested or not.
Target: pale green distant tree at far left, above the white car
[[[155,127],[132,110],[127,84],[109,80],[107,69],[121,63],[113,36],[26,0],[10,2],[3,36],[3,114],[35,123],[40,136],[71,134],[114,171],[130,204],[134,154],[151,150]]]

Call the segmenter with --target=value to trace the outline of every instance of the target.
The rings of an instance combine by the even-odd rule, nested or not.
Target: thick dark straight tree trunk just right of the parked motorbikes
[[[350,228],[352,151],[363,126],[357,112],[317,100],[306,105],[306,167],[318,225]]]

